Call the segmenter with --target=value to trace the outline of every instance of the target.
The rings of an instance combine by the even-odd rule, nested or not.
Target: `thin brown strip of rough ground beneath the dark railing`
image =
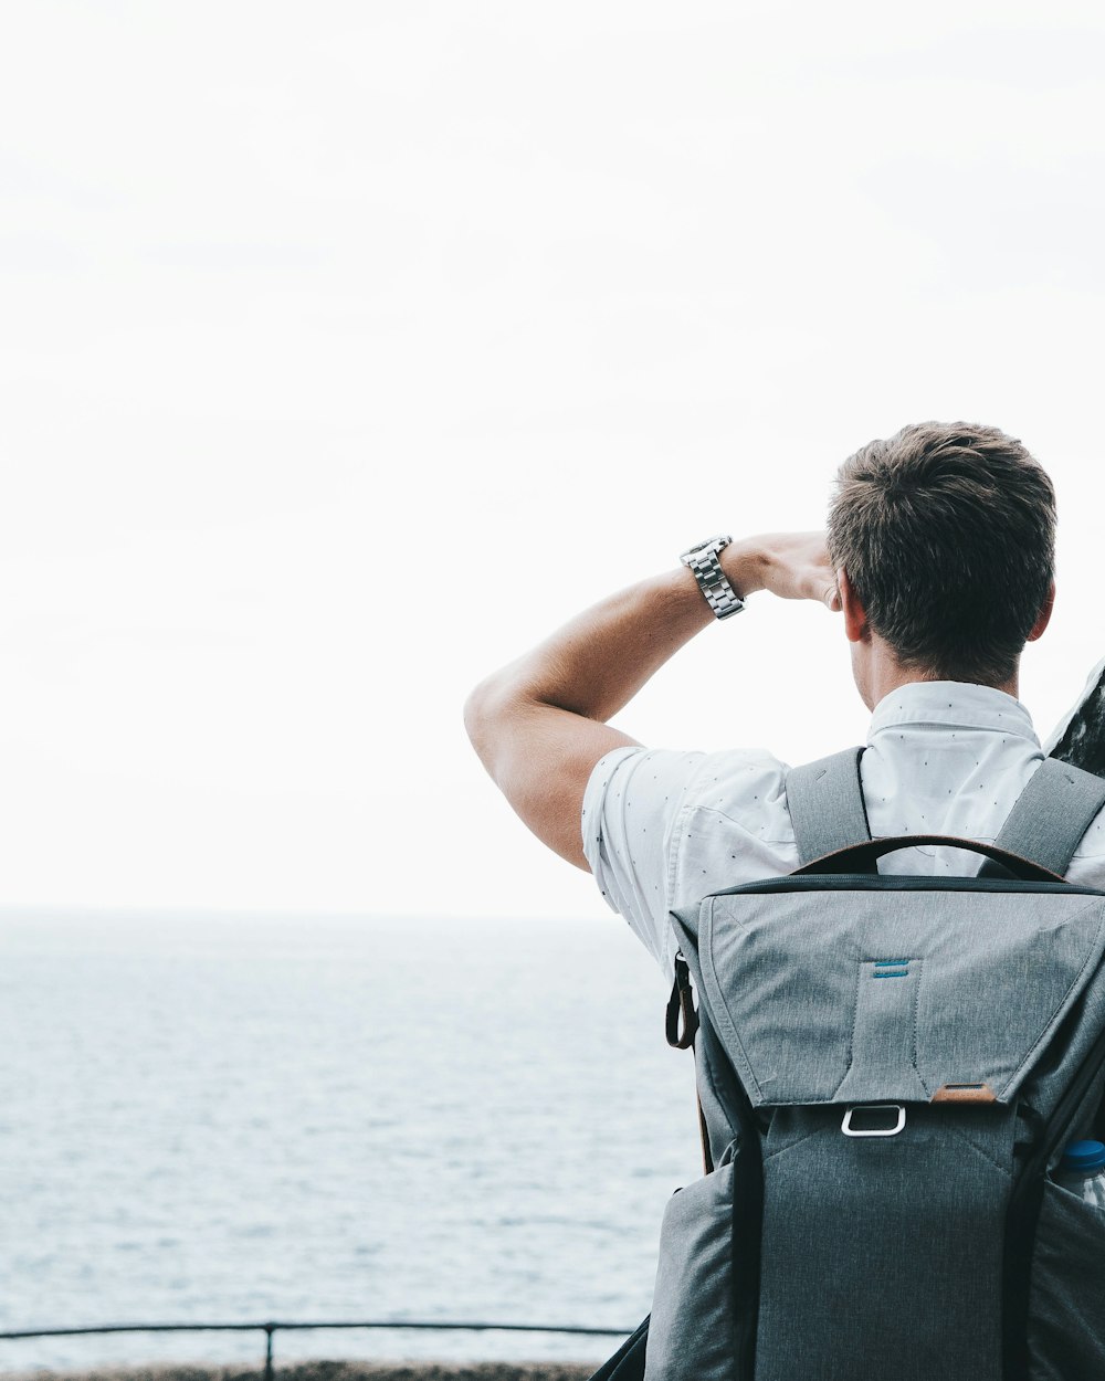
[[[276,1381],[586,1381],[593,1366],[535,1362],[478,1362],[452,1366],[434,1362],[297,1362],[276,1366]],[[7,1381],[260,1381],[261,1367],[99,1367],[88,1371],[8,1371]]]

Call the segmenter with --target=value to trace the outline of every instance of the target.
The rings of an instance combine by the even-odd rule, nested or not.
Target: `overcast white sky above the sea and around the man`
[[[1041,14],[12,7],[0,905],[601,914],[467,689],[928,417],[1055,478],[1047,731],[1105,653],[1105,19]],[[866,713],[761,597],[622,722],[798,760]]]

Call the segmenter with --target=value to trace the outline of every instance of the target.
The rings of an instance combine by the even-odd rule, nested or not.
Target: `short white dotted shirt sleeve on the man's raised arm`
[[[666,971],[677,947],[667,920],[671,837],[703,758],[615,749],[595,764],[583,797],[583,852],[595,882]]]

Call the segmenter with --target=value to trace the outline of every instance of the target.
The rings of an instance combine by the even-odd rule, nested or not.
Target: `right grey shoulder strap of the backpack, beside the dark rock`
[[[1014,801],[995,844],[1064,877],[1102,807],[1105,778],[1044,758]]]

